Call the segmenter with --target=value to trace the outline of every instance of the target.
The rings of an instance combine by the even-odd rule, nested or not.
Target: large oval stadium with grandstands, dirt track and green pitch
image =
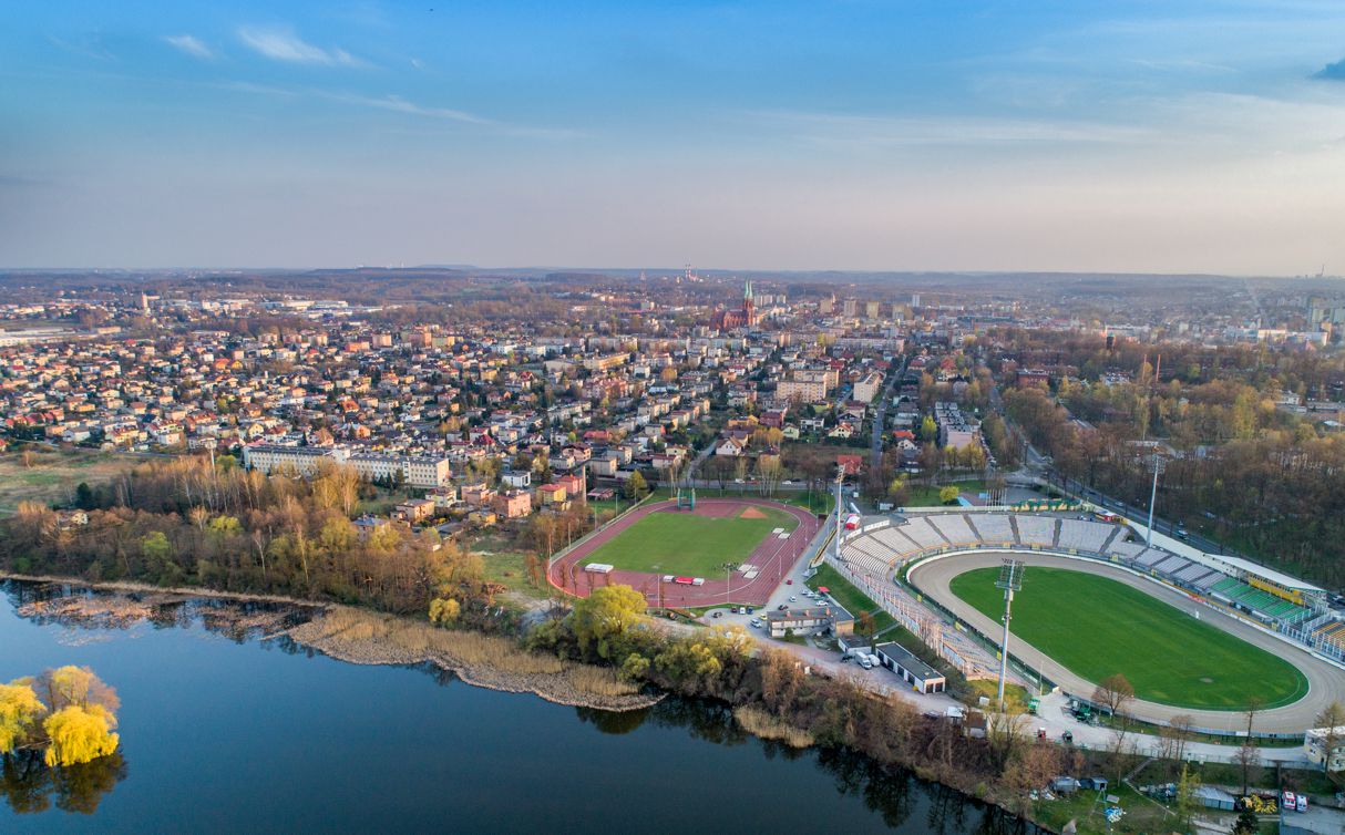
[[[1006,558],[1025,582],[1010,621],[1014,676],[1089,699],[1124,675],[1128,713],[1189,715],[1231,733],[1302,733],[1345,692],[1341,623],[1325,592],[1194,549],[1146,547],[1124,524],[1077,515],[933,512],[869,518],[831,561],[971,676],[997,672]],[[1184,554],[1174,551],[1184,550]]]

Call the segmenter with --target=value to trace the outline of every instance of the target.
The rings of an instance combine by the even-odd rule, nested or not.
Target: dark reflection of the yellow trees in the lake
[[[104,796],[125,779],[121,752],[63,768],[48,768],[36,750],[0,757],[0,789],[9,808],[20,815],[46,812],[52,805],[93,815]]]

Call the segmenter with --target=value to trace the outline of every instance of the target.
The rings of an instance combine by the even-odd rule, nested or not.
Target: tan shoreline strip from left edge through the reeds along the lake
[[[285,636],[296,644],[321,652],[335,660],[347,664],[360,666],[402,666],[414,667],[430,664],[438,670],[452,672],[464,683],[484,690],[500,692],[526,692],[535,695],[553,705],[568,707],[589,707],[594,710],[625,711],[651,707],[664,698],[664,694],[629,692],[629,694],[599,694],[585,692],[574,682],[577,675],[584,678],[601,676],[603,674],[586,672],[603,671],[604,668],[580,666],[574,663],[562,664],[558,659],[538,656],[535,653],[518,649],[511,639],[500,636],[487,636],[483,632],[455,632],[438,629],[418,620],[360,609],[356,606],[342,606],[311,600],[300,600],[280,594],[249,594],[242,592],[219,592],[211,589],[194,589],[190,586],[161,588],[141,582],[128,581],[90,581],[73,577],[16,574],[13,571],[0,571],[0,580],[35,584],[61,584],[93,590],[134,593],[134,594],[174,594],[182,597],[230,600],[238,602],[268,602],[284,604],[307,609],[312,617],[303,624],[273,632],[258,637],[260,641],[274,640]],[[327,629],[334,613],[342,613],[346,620],[358,619],[364,627],[366,635],[352,636],[350,629]],[[379,628],[374,633],[374,628]],[[521,656],[537,658],[541,662],[554,660],[554,670],[550,671],[516,671],[506,670],[488,660],[468,659],[452,651],[453,635],[473,635],[482,639],[494,639],[499,643],[510,644]],[[441,637],[440,645],[434,647],[433,639]],[[401,639],[401,640],[399,640]],[[504,649],[503,645],[496,647]],[[553,664],[546,664],[553,666]],[[585,671],[577,674],[576,671]]]

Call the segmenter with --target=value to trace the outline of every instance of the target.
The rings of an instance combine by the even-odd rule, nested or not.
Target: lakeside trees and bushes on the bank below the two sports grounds
[[[753,655],[756,644],[740,628],[674,636],[648,628],[643,612],[639,592],[604,586],[576,601],[568,616],[533,627],[525,640],[533,649],[613,666],[623,678],[670,692],[759,709],[823,748],[900,764],[1020,813],[1030,811],[1033,789],[1079,768],[1076,752],[1033,738],[1021,714],[993,718],[985,738],[974,738],[857,680],[810,675],[788,652]]]

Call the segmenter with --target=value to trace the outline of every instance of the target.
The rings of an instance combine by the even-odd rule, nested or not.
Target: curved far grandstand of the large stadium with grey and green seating
[[[1124,565],[1215,605],[1278,629],[1345,662],[1345,623],[1326,593],[1279,571],[1233,557],[1174,554],[1131,542],[1124,524],[1045,514],[942,512],[865,519],[845,536],[841,559],[866,585],[890,585],[916,558],[960,549],[1053,550]]]

